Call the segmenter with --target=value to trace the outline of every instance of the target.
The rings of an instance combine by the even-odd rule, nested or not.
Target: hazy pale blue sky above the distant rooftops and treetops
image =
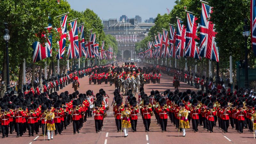
[[[84,11],[86,8],[93,10],[100,19],[107,20],[127,15],[128,18],[135,18],[139,15],[142,22],[151,17],[155,18],[158,13],[161,15],[170,11],[175,0],[67,0],[71,8],[76,11]]]

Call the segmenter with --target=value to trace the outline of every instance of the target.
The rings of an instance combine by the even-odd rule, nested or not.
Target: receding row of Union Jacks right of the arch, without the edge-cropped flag
[[[148,42],[148,50],[139,53],[140,58],[192,57],[201,60],[204,57],[219,62],[219,48],[215,42],[216,32],[214,24],[209,21],[211,13],[212,7],[202,3],[200,25],[196,23],[197,17],[189,12],[187,12],[187,26],[177,18],[177,27],[170,24],[169,31],[163,29],[163,33],[158,32],[155,35],[155,42]],[[200,27],[199,37],[196,35],[198,27]],[[200,41],[199,44],[196,40]]]

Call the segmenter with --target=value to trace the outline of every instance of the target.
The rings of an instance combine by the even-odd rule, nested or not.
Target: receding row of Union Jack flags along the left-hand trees
[[[85,40],[84,25],[77,25],[77,20],[68,23],[71,29],[67,31],[67,20],[68,15],[62,16],[61,27],[56,29],[60,33],[60,41],[57,41],[59,46],[58,54],[56,55],[57,60],[64,58],[66,39],[70,41],[67,50],[68,59],[99,57],[99,60],[110,60],[113,58],[113,48],[109,47],[108,50],[105,50],[104,41],[102,42],[102,47],[99,52],[99,43],[96,43],[96,33],[92,33],[92,30],[90,31],[89,41]],[[52,25],[50,23],[47,29],[52,29]],[[81,34],[80,40],[78,40],[78,32]],[[42,34],[42,37],[46,37],[46,35]],[[50,35],[46,37],[46,39],[47,42],[45,44],[40,44],[38,41],[32,44],[33,62],[52,57],[52,36]]]

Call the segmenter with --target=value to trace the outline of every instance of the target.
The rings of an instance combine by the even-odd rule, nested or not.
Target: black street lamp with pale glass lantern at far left
[[[4,29],[4,40],[6,44],[6,92],[10,93],[11,87],[10,87],[10,74],[9,74],[9,49],[8,49],[8,41],[10,40],[9,30],[7,28],[7,23],[4,23],[5,29]]]

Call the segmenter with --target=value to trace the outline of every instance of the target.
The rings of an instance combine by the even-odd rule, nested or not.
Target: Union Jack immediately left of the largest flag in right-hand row
[[[196,23],[197,17],[187,13],[187,31],[186,31],[186,46],[185,46],[185,55],[195,59],[200,59],[199,50],[197,47],[197,42],[195,39],[198,39],[196,36],[196,29],[198,24]]]

